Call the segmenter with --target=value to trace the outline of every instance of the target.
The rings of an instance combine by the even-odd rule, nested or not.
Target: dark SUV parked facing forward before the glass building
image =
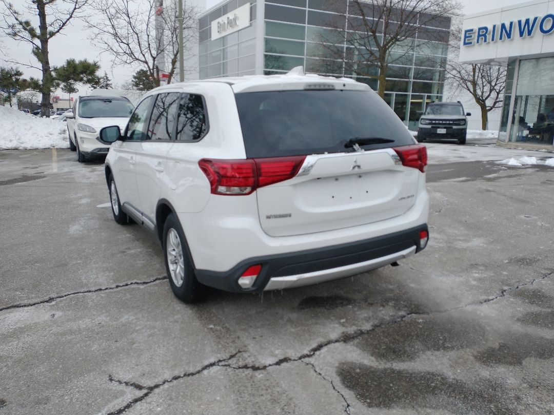
[[[465,113],[464,106],[458,102],[432,102],[419,118],[417,139],[423,142],[428,138],[455,139],[465,144],[468,132],[470,112]]]

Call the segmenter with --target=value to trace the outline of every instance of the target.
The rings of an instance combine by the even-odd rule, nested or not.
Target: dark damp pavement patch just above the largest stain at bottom
[[[450,315],[413,318],[364,336],[356,346],[384,361],[409,361],[428,351],[466,349],[481,343],[485,329]]]

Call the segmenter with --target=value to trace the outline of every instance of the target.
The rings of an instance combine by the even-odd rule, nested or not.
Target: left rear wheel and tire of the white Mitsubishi
[[[203,299],[204,287],[194,275],[194,266],[187,241],[175,214],[168,215],[163,224],[162,246],[167,277],[175,297],[183,303],[196,303]]]

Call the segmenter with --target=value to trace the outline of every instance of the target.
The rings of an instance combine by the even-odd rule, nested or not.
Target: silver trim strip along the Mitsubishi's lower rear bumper
[[[392,264],[395,261],[403,260],[404,258],[414,255],[414,253],[416,253],[416,246],[412,246],[411,248],[403,251],[392,253],[391,255],[375,258],[369,261],[345,265],[343,267],[322,269],[321,271],[289,275],[286,277],[273,277],[265,286],[264,291],[303,287],[311,284],[318,284],[320,282],[332,281],[333,279],[350,277],[361,272],[381,268],[385,265]]]

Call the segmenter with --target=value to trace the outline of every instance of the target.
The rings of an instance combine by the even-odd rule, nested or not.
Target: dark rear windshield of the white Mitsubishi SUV
[[[279,157],[406,146],[414,140],[370,91],[235,94],[247,157]]]

